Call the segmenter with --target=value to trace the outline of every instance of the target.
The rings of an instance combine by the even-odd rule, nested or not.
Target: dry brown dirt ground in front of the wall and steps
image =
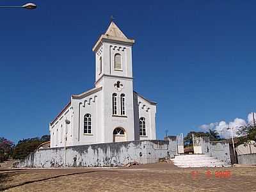
[[[156,163],[129,168],[5,169],[0,170],[0,189],[245,192],[256,191],[256,168],[177,168]]]

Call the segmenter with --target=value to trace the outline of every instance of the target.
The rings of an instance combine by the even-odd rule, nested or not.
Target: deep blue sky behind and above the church
[[[157,138],[255,111],[255,1],[33,2],[0,9],[0,136],[48,134],[70,95],[93,88],[110,15],[136,40],[134,90],[158,103]]]

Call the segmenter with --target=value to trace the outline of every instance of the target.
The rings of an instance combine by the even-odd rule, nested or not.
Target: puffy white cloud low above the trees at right
[[[256,118],[256,113],[255,113],[255,118]],[[252,113],[248,115],[248,122],[252,122]],[[200,128],[204,129],[204,131],[209,131],[209,129],[215,130],[216,132],[219,133],[221,138],[231,138],[232,132],[234,136],[238,136],[237,131],[239,131],[242,125],[246,125],[246,124],[247,122],[246,120],[243,120],[243,118],[235,118],[234,121],[232,122],[220,121],[220,122],[215,122],[211,124],[201,125]]]

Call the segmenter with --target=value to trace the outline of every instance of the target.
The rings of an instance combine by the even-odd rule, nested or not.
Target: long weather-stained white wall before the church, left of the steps
[[[124,166],[132,161],[141,164],[156,163],[159,158],[173,156],[168,143],[168,141],[145,140],[67,147],[66,165],[68,167],[93,167]],[[38,149],[18,163],[17,167],[62,167],[63,162],[63,147]]]

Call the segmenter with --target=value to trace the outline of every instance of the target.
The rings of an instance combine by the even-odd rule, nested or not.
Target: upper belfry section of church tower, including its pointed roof
[[[95,85],[103,76],[132,78],[132,45],[134,40],[111,22],[93,47],[95,52]]]

